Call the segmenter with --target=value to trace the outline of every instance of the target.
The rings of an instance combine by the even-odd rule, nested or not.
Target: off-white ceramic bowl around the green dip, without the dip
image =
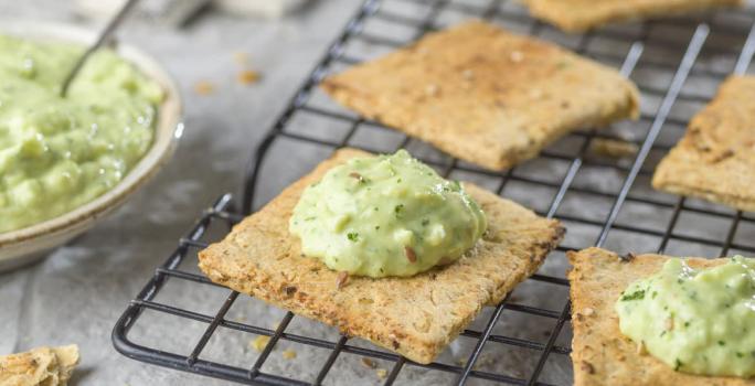
[[[94,31],[68,24],[0,21],[0,33],[40,41],[67,41],[91,44]],[[55,218],[29,227],[0,233],[0,272],[44,257],[50,249],[92,228],[106,214],[126,202],[170,159],[183,131],[181,100],[173,79],[150,56],[127,44],[117,44],[118,54],[158,82],[166,99],[158,111],[152,147],[113,190]]]

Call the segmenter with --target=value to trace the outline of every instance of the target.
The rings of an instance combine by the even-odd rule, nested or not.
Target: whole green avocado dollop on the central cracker
[[[289,230],[305,255],[373,278],[456,261],[487,227],[479,205],[405,150],[355,158],[308,186]]]

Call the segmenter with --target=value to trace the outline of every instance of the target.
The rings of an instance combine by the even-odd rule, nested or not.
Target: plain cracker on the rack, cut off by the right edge
[[[755,77],[731,76],[663,158],[652,186],[755,211]]]

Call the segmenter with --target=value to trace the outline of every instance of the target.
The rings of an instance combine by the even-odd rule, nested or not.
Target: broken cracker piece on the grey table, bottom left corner
[[[65,386],[78,363],[78,347],[39,347],[0,356],[0,386]]]

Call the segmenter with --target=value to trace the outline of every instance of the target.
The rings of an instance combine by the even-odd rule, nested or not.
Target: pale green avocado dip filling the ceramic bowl
[[[0,233],[96,199],[152,143],[162,89],[111,51],[60,97],[83,50],[0,35]]]

